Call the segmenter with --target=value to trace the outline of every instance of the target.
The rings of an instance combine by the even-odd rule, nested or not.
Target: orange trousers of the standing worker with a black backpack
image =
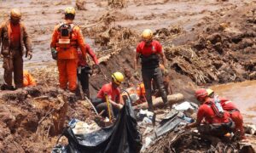
[[[78,59],[58,59],[60,88],[68,89],[72,92],[77,88],[77,66]]]

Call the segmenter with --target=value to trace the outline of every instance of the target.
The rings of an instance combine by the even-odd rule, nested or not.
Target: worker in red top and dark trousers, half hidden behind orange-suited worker
[[[85,44],[86,53],[90,54],[91,59],[93,59],[94,63],[99,66],[98,59],[96,58],[96,54],[90,48],[89,44]],[[82,52],[79,50],[79,67],[78,67],[78,78],[79,83],[81,83],[84,94],[90,99],[90,91],[89,91],[89,75],[92,74],[90,66],[88,65],[86,58],[84,58]]]

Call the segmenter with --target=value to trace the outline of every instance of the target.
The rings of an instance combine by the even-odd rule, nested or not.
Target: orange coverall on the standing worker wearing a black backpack
[[[58,30],[60,25],[55,26],[52,34],[50,48],[57,50],[57,65],[59,70],[60,88],[74,92],[77,88],[77,66],[78,66],[78,47],[81,49],[85,57],[85,43],[83,34],[79,26],[73,26],[71,42],[76,42],[70,48],[60,48],[57,45],[61,32]]]

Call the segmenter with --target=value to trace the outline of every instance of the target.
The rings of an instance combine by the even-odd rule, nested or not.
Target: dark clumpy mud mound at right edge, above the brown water
[[[208,76],[210,82],[240,82],[255,78],[255,61],[252,58],[256,50],[255,14],[253,8],[246,12],[243,10],[238,9],[236,14],[206,26],[198,40],[191,44],[201,60],[213,65],[212,71],[218,71],[218,80]],[[229,21],[233,18],[236,22]]]

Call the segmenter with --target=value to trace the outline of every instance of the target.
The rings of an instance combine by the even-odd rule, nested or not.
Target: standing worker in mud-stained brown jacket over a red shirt
[[[3,57],[3,79],[5,89],[14,89],[12,85],[13,73],[15,88],[23,87],[23,50],[26,48],[26,57],[32,59],[32,44],[26,28],[20,22],[21,13],[17,8],[10,11],[10,19],[0,26],[0,46]]]

